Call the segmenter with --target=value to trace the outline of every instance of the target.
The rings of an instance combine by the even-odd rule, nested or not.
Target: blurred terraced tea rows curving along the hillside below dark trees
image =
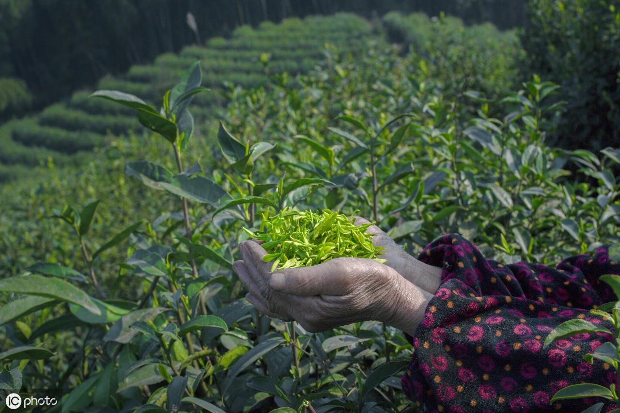
[[[160,55],[153,64],[132,66],[122,76],[100,79],[94,89],[117,89],[159,105],[157,97],[200,60],[203,85],[211,92],[197,96],[192,113],[206,120],[218,116],[234,87],[264,85],[278,73],[307,72],[325,63],[327,44],[340,55],[355,55],[370,37],[370,24],[352,14],[263,22],[256,29],[239,27],[231,38],[211,38],[204,47],[185,47],[179,54]],[[76,92],[35,117],[2,125],[0,182],[27,174],[50,157],[56,164],[79,164],[105,146],[108,134],[122,135],[135,127],[131,109],[89,99],[90,94]]]

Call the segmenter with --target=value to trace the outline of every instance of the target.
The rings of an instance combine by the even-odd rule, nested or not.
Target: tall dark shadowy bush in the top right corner
[[[523,71],[562,86],[566,115],[554,143],[603,149],[620,144],[620,8],[601,0],[530,2],[521,33]],[[614,57],[611,57],[614,56]]]

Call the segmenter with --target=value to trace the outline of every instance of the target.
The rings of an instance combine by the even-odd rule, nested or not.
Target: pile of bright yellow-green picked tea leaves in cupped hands
[[[378,258],[383,247],[373,245],[373,234],[366,229],[372,223],[355,225],[353,216],[338,211],[294,211],[290,208],[280,213],[263,215],[260,231],[244,228],[251,238],[263,241],[267,251],[265,262],[273,260],[276,268],[309,267],[339,257]],[[279,267],[278,267],[279,265]]]

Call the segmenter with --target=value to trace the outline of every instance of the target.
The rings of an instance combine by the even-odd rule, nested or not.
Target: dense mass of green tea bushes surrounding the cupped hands
[[[63,389],[66,411],[403,411],[401,332],[363,322],[310,334],[243,298],[230,265],[260,213],[360,210],[414,254],[459,232],[503,262],[618,241],[620,153],[546,146],[554,84],[453,95],[397,48],[327,53],[308,74],[229,89],[225,128],[195,123],[187,141],[192,124],[169,100],[160,123],[143,118],[166,139],[111,137],[86,166],[3,186],[2,378]],[[191,73],[172,99],[197,87]]]

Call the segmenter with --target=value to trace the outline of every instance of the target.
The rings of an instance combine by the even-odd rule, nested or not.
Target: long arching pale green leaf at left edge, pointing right
[[[91,297],[76,286],[60,278],[47,278],[38,274],[4,278],[0,280],[0,291],[38,295],[53,298],[54,300],[67,301],[68,303],[78,304],[93,314],[101,314],[101,311]]]

